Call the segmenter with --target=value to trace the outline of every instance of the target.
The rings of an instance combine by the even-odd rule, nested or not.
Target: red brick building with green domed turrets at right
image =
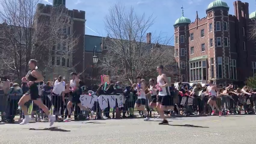
[[[234,1],[235,15],[229,14],[226,2],[215,0],[206,9],[206,17],[194,22],[182,16],[175,21],[175,59],[185,82],[212,79],[220,87],[233,82],[242,85],[256,73],[255,41],[248,38],[248,3]]]

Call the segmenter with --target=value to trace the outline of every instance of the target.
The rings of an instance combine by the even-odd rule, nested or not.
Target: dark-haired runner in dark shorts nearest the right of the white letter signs
[[[134,105],[134,109],[137,108],[137,110],[139,111],[144,111],[145,113],[145,121],[149,120],[148,117],[148,111],[146,109],[146,94],[145,94],[145,83],[144,83],[144,79],[141,79],[140,76],[137,76],[137,86],[136,86],[136,90],[138,91],[138,99]]]

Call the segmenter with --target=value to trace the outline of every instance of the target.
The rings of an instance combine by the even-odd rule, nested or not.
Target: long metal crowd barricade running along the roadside
[[[90,108],[90,111],[81,111],[77,105],[73,105],[71,117],[75,120],[87,120],[90,119],[107,119],[107,118],[121,118],[121,117],[138,117],[142,116],[143,112],[139,112],[134,109],[134,105],[136,103],[136,99],[128,99],[125,98],[122,94],[117,95],[82,95],[84,99],[84,105]],[[86,98],[85,98],[86,97]],[[119,98],[119,99],[118,99]],[[121,100],[122,98],[122,100]],[[18,120],[24,118],[20,107],[18,106],[18,101],[20,97],[16,98],[8,98],[8,95],[0,95],[0,114],[1,120],[3,122],[13,120]],[[68,117],[67,113],[67,103],[70,98],[65,99],[66,105],[63,103],[62,98],[53,99],[50,95],[42,96],[42,101],[49,108],[52,114],[57,116],[57,120],[63,120]],[[171,99],[171,104],[177,105],[178,113],[173,110],[165,111],[166,116],[173,115],[200,115],[205,113],[206,115],[210,115],[212,113],[212,109],[207,104],[209,97],[200,96],[191,98],[189,96],[182,97],[181,95],[173,97]],[[150,108],[148,105],[151,99],[147,99],[147,110],[148,114],[152,117],[157,116],[157,110]],[[229,96],[229,95],[221,95],[216,98],[216,104],[223,112],[223,115],[229,114],[255,114],[254,104],[256,104],[256,95],[244,95],[244,96]],[[28,101],[25,104],[28,108],[29,114],[32,115],[35,121],[48,121],[47,117],[44,113],[35,105],[32,101]],[[56,109],[57,108],[57,109]],[[216,114],[218,111],[215,108]],[[93,115],[93,116],[92,116]],[[46,118],[46,119],[44,119]]]

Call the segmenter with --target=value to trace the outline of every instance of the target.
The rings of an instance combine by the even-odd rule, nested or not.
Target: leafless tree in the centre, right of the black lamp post
[[[108,37],[103,41],[99,67],[108,71],[111,79],[134,81],[136,76],[153,76],[160,64],[173,67],[174,47],[169,45],[172,39],[146,34],[154,20],[152,15],[139,16],[133,7],[127,10],[120,3],[110,8],[105,17]]]

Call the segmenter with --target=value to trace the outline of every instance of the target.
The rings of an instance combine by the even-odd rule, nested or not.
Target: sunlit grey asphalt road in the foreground
[[[183,117],[168,119],[108,119],[84,122],[47,122],[0,125],[0,143],[171,143],[254,144],[255,115]]]

